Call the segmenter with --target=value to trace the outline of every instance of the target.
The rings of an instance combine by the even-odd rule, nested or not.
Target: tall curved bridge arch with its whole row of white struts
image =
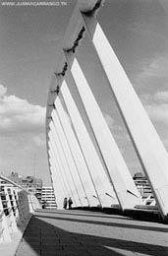
[[[119,204],[125,210],[142,203],[129,168],[91,92],[91,85],[87,83],[80,60],[77,60],[76,50],[85,34],[101,63],[102,74],[106,75],[158,209],[166,218],[168,154],[96,20],[101,4],[98,0],[82,0],[77,4],[49,89],[47,153],[57,204],[62,207],[64,197],[69,196],[75,206]]]

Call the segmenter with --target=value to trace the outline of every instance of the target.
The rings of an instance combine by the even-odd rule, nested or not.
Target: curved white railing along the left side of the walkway
[[[21,186],[0,176],[0,243],[11,242],[23,233],[31,214],[41,206],[34,195]]]

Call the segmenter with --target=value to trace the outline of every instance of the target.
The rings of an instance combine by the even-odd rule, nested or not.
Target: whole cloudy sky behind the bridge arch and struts
[[[48,87],[76,1],[64,2],[52,7],[0,6],[0,171],[35,175],[46,185]],[[97,19],[168,150],[167,0],[106,0]],[[131,172],[140,171],[86,36],[78,58]]]

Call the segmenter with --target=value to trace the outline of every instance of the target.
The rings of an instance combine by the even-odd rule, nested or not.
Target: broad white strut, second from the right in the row
[[[123,210],[134,208],[140,204],[140,193],[76,58],[71,72],[120,205]]]

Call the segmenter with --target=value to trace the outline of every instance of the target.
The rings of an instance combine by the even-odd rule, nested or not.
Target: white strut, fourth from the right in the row
[[[93,195],[95,195],[95,190],[94,190],[94,186],[92,184],[92,181],[91,181],[91,178],[89,175],[87,165],[84,160],[84,155],[83,155],[82,149],[78,143],[78,140],[74,133],[72,125],[70,124],[70,122],[68,120],[68,115],[64,111],[64,108],[62,106],[62,103],[61,103],[59,97],[56,98],[55,105],[56,105],[60,120],[62,122],[62,125],[64,127],[64,131],[67,136],[67,140],[69,142],[69,145],[71,146],[72,154],[74,155],[74,159],[76,160],[76,164],[79,168],[80,175],[82,177],[82,181],[84,184],[86,197],[88,198],[89,205],[92,206],[92,204],[94,204],[94,201],[95,201],[92,197]]]

